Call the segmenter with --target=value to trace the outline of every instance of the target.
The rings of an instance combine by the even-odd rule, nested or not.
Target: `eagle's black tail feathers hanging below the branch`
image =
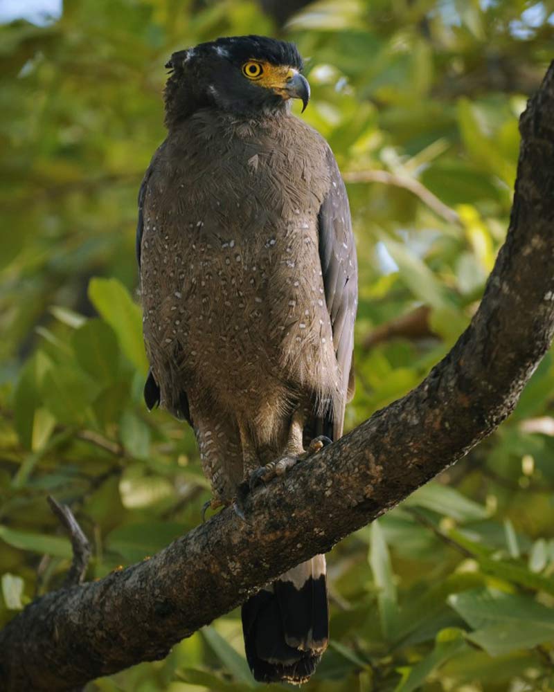
[[[306,682],[327,648],[325,556],[285,572],[242,606],[244,647],[260,682]]]

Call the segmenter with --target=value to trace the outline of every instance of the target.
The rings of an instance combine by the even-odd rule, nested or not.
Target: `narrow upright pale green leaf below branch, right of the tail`
[[[391,556],[388,554],[388,547],[379,520],[375,520],[371,525],[369,563],[375,585],[379,589],[377,603],[383,636],[386,639],[391,639],[394,637],[398,614],[397,595]]]

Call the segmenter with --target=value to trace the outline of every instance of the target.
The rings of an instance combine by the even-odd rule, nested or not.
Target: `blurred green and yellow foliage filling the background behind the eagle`
[[[551,58],[553,10],[331,0],[279,29],[247,0],[66,0],[58,20],[0,27],[1,622],[69,565],[48,493],[93,541],[89,579],[188,531],[209,496],[190,430],[141,399],[136,192],[164,136],[168,55],[217,35],[280,33],[307,57],[305,118],[357,180],[352,428],[416,385],[476,309],[508,226],[517,118]],[[414,315],[417,334],[404,329]],[[395,338],[371,340],[391,320]],[[333,550],[332,642],[305,689],[554,689],[553,392],[548,354],[493,437]],[[257,687],[240,631],[232,612],[165,661],[87,690]]]

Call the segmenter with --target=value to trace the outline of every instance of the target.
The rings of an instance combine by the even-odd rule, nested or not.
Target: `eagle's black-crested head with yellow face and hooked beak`
[[[292,43],[265,36],[223,37],[173,53],[166,63],[166,125],[202,108],[256,117],[286,111],[298,98],[303,110],[310,85]]]

